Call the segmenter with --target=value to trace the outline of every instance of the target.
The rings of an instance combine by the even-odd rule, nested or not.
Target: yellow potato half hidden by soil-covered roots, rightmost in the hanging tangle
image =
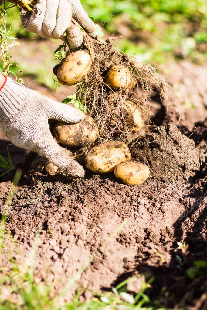
[[[137,132],[144,126],[142,111],[136,104],[126,100],[122,104],[122,110],[126,114],[126,122],[130,126],[132,132]]]

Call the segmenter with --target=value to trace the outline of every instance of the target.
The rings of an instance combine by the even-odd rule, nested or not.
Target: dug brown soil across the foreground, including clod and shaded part
[[[155,277],[147,291],[155,303],[192,309],[207,290],[206,269],[194,265],[207,257],[207,111],[206,97],[199,93],[197,98],[202,115],[197,106],[191,112],[192,107],[183,104],[178,128],[166,125],[169,111],[157,101],[156,113],[160,111],[164,121],[131,148],[133,157],[151,169],[142,185],[123,185],[113,174],[90,171],[72,183],[60,173],[47,175],[46,159],[27,155],[8,214],[3,265],[10,266],[11,257],[23,269],[33,262],[35,281],[52,282],[57,291],[66,286],[66,299],[80,286],[92,292],[109,290],[128,276],[145,273]],[[0,183],[1,213],[12,177],[5,175]],[[178,248],[177,242],[186,246]],[[78,284],[67,284],[94,253]],[[189,268],[194,279],[187,275]],[[202,305],[193,309],[206,309]]]

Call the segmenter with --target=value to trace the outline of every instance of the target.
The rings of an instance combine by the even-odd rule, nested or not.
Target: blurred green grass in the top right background
[[[111,0],[107,3],[82,0],[82,3],[109,33],[119,35],[119,25],[126,25],[133,35],[131,39],[119,39],[117,46],[140,61],[160,64],[177,59],[180,50],[179,58],[205,61],[207,52],[200,52],[198,46],[207,42],[207,6],[203,0]],[[112,12],[117,11],[111,17]],[[191,25],[194,29],[190,29]]]

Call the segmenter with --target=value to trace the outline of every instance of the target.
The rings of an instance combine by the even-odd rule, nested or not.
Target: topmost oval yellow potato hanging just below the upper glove
[[[70,53],[57,68],[58,81],[64,85],[75,85],[85,79],[91,67],[92,60],[87,52]]]

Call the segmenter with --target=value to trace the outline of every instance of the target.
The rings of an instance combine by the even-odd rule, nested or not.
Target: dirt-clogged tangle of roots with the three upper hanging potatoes
[[[80,28],[75,20],[72,23]],[[91,33],[83,32],[80,50],[69,50],[53,72],[60,83],[78,83],[77,99],[97,123],[98,142],[128,143],[131,134],[149,122],[152,89],[158,90],[165,104],[169,102],[169,86],[153,67],[121,54],[110,39]]]

